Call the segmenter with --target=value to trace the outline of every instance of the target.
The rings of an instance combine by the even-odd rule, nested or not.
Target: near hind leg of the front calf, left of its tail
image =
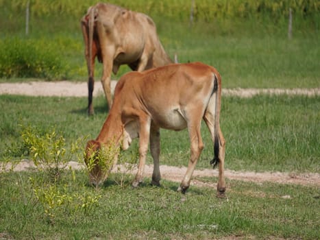
[[[184,175],[184,179],[182,180],[180,187],[177,189],[177,191],[181,191],[182,193],[186,193],[186,190],[190,186],[190,180],[193,175],[193,171],[195,170],[195,165],[197,165],[197,160],[199,159],[202,149],[204,149],[204,143],[201,139],[200,129],[201,119],[200,121],[188,122],[188,132],[190,136],[190,160],[188,163],[188,169]]]

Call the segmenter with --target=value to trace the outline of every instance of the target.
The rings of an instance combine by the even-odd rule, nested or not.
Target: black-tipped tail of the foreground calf
[[[218,78],[219,77],[219,78]],[[220,108],[221,108],[221,79],[220,75],[214,73],[214,87],[212,93],[215,93],[215,106],[214,106],[214,158],[210,161],[212,167],[219,165],[219,131],[220,131]]]

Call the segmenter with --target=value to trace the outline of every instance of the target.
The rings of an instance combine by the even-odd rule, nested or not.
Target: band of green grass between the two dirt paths
[[[1,95],[0,152],[10,145],[19,149],[21,123],[30,124],[40,132],[56,127],[66,143],[82,136],[95,139],[107,116],[103,96],[95,98],[95,106],[96,115],[88,117],[85,97]],[[319,172],[319,106],[319,97],[223,97],[221,129],[227,141],[225,167],[247,171]],[[202,132],[205,148],[197,167],[208,168],[213,147],[205,124]],[[136,140],[131,148],[137,145]],[[161,164],[186,166],[189,145],[186,130],[162,130]],[[21,158],[21,154],[17,150],[10,156]],[[152,163],[150,156],[147,160]]]

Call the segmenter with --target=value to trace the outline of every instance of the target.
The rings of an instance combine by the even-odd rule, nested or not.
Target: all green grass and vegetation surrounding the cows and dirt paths
[[[180,62],[201,61],[217,67],[224,88],[319,88],[320,2],[312,0],[110,1],[145,12],[160,40]],[[0,0],[0,82],[86,81],[79,20],[96,1]],[[288,12],[293,34],[288,38]],[[118,78],[126,71],[121,67]],[[97,80],[101,64],[97,64]],[[97,84],[99,82],[97,81]],[[51,135],[43,156],[69,152],[78,138],[95,138],[106,119],[106,99],[95,97],[95,116],[86,115],[86,97],[0,96],[0,162],[32,158],[22,125],[36,130],[39,145]],[[244,171],[319,173],[320,97],[223,96],[221,128],[227,140],[225,167]],[[212,143],[202,128],[205,149],[197,168],[210,167]],[[53,134],[51,132],[51,134]],[[38,137],[37,137],[38,136]],[[56,134],[53,134],[56,136]],[[57,135],[60,136],[60,135]],[[188,133],[161,132],[161,164],[186,166]],[[56,142],[55,142],[56,141]],[[29,143],[27,141],[27,143]],[[62,144],[63,143],[63,144]],[[65,143],[65,145],[64,145]],[[136,155],[134,141],[123,159]],[[84,149],[83,146],[79,146]],[[52,154],[51,154],[52,152]],[[51,154],[51,155],[50,155]],[[40,159],[41,160],[41,159]],[[147,163],[152,163],[148,156]],[[84,171],[62,169],[0,170],[0,239],[317,239],[319,187],[254,184],[227,179],[227,199],[216,190],[150,179],[132,189],[133,176],[111,174],[99,189],[88,186]],[[119,179],[121,179],[119,181]],[[217,178],[198,178],[217,182]],[[121,182],[121,184],[119,184]]]

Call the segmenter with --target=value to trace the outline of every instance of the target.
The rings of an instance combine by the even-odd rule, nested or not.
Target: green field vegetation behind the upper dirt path
[[[177,53],[180,62],[201,61],[217,67],[225,87],[319,86],[319,1],[195,0],[192,25],[193,1],[110,2],[149,14],[171,58]],[[22,43],[28,40],[34,46],[47,46],[39,56],[49,54],[56,61],[49,65],[54,74],[47,74],[49,77],[42,74],[43,77],[86,81],[79,20],[88,6],[95,3],[31,0],[29,34],[25,36],[27,1],[1,0],[1,49],[11,48],[3,40],[12,37]],[[288,40],[289,8],[293,12],[291,40]],[[23,52],[16,54],[21,59],[19,54]],[[5,56],[0,55],[2,66],[8,64]],[[29,64],[36,62],[37,56],[30,56]],[[8,77],[5,69],[8,70],[0,67],[0,77]],[[126,71],[129,69],[123,66],[114,77]],[[16,77],[25,75],[16,74]],[[99,80],[101,64],[97,64],[96,76]]]

